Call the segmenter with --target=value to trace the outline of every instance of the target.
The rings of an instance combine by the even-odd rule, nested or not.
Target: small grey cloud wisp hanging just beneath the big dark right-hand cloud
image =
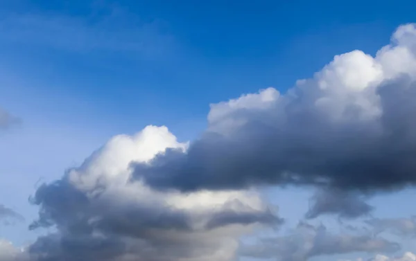
[[[313,219],[320,215],[339,215],[352,219],[370,215],[373,207],[365,202],[363,195],[344,190],[318,190],[311,197],[309,210],[305,217]]]

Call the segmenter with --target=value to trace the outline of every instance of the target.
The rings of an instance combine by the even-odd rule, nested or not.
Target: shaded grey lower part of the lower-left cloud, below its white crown
[[[185,210],[134,201],[114,204],[101,194],[110,188],[96,188],[101,192],[91,197],[65,175],[37,190],[31,201],[40,206],[40,218],[30,228],[55,226],[58,233],[38,238],[28,248],[31,260],[208,261],[214,253],[214,259],[228,261],[241,233],[241,228],[232,226],[283,222],[271,210],[255,210],[234,199],[203,214],[208,220],[196,228]],[[225,251],[225,257],[221,252],[216,257],[218,249]]]

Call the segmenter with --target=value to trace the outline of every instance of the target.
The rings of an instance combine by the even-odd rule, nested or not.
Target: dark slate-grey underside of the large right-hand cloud
[[[229,136],[207,132],[188,152],[171,150],[150,164],[135,164],[135,177],[155,188],[183,191],[262,184],[365,191],[415,185],[413,80],[384,82],[377,91],[383,114],[365,123],[333,124],[302,105],[307,90],[296,91],[296,99],[270,110],[278,114],[283,109],[283,118],[270,116],[265,123],[253,116]],[[354,116],[354,107],[350,111]]]

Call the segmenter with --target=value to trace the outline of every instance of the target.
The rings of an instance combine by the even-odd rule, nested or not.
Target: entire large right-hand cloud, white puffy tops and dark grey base
[[[189,150],[137,163],[134,176],[159,190],[184,192],[413,186],[415,55],[416,27],[406,24],[374,57],[362,51],[336,55],[286,93],[268,88],[211,105],[209,127]]]

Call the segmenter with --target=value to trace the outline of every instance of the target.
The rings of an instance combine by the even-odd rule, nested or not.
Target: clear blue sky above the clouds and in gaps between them
[[[415,7],[411,1],[0,1],[0,106],[21,118],[0,134],[0,204],[26,219],[1,226],[0,238],[24,245],[44,233],[27,229],[37,217],[27,200],[37,182],[59,179],[110,137],[166,125],[179,141],[192,141],[207,125],[210,104],[267,87],[284,93],[337,54],[375,55],[397,26],[413,21]],[[268,190],[291,226],[313,192]],[[413,189],[375,197],[374,216],[414,215],[414,198]]]

